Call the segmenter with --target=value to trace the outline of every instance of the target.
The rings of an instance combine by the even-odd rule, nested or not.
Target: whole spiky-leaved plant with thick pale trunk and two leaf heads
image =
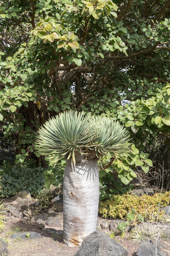
[[[63,183],[64,241],[81,245],[96,230],[99,205],[98,158],[130,152],[129,133],[118,122],[84,112],[64,112],[38,131],[37,151],[55,163],[66,158]],[[74,171],[75,170],[75,171]]]

